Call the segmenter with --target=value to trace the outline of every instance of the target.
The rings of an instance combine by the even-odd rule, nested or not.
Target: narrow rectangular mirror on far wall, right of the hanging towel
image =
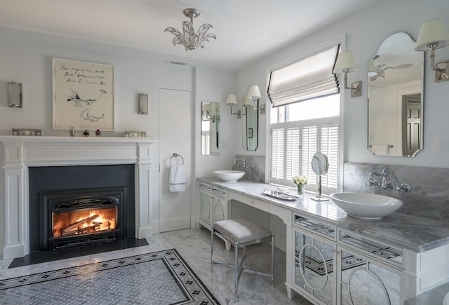
[[[220,104],[201,102],[201,154],[220,154]]]

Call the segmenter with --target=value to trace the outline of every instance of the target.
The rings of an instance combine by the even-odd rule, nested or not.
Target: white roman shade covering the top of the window
[[[268,97],[273,107],[339,92],[333,74],[340,45],[270,73]]]

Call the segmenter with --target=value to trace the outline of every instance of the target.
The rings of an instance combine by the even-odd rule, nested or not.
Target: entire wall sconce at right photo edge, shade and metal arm
[[[449,79],[449,61],[439,62],[435,65],[435,50],[448,46],[448,44],[449,31],[443,19],[431,19],[422,24],[415,50],[430,51],[430,69],[435,71],[435,81],[447,81]]]

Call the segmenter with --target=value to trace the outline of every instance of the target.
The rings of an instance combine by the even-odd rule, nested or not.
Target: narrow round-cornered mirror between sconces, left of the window
[[[258,146],[257,137],[259,134],[258,113],[253,107],[253,100],[249,97],[243,97],[242,107],[242,139],[243,149],[246,151],[255,151]],[[259,101],[256,100],[256,108],[259,107]]]

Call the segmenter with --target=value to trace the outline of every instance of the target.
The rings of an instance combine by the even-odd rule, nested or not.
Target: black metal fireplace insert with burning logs
[[[41,191],[40,249],[62,250],[127,238],[125,188]]]

